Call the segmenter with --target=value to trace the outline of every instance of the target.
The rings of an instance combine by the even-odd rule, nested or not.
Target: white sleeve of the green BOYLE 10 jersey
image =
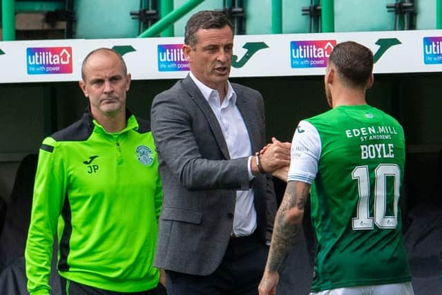
[[[321,153],[320,136],[316,128],[301,121],[291,142],[291,160],[287,182],[301,181],[311,184],[318,173]]]

